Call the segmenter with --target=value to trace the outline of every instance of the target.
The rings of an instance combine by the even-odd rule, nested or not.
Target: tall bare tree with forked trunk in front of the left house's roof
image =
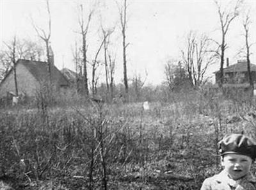
[[[40,28],[39,26],[36,26],[36,24],[33,22],[33,19],[31,19],[31,21],[37,35],[45,42],[47,64],[48,64],[48,67],[47,67],[48,79],[49,79],[49,83],[51,84],[51,56],[50,56],[51,12],[50,12],[49,0],[45,0],[45,1],[46,1],[47,16],[48,16],[48,31],[46,31],[46,29]]]

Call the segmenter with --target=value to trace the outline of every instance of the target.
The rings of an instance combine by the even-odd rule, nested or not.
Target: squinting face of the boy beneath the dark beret
[[[242,154],[226,154],[221,157],[221,165],[228,175],[237,180],[247,175],[252,166],[252,158]]]

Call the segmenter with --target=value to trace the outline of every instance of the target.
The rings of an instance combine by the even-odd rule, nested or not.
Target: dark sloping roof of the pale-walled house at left
[[[45,81],[48,77],[48,70],[47,70],[47,62],[42,62],[42,61],[31,61],[31,60],[26,60],[26,59],[19,59],[16,62],[16,67],[17,65],[22,64],[24,65],[29,72],[35,77],[37,81]],[[12,72],[12,69],[6,74],[4,77],[3,81],[8,77],[8,75]],[[54,65],[51,67],[51,79],[52,83],[58,84],[60,86],[68,86],[68,81],[67,79],[61,74],[60,70],[56,68]],[[3,83],[1,81],[1,83]]]

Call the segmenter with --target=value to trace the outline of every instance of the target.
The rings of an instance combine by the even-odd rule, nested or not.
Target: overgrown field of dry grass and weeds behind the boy
[[[2,181],[14,189],[200,189],[221,170],[224,134],[256,135],[253,100],[193,91],[149,104],[1,109]]]

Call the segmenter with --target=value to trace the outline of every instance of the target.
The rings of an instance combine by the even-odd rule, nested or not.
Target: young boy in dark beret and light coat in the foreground
[[[256,190],[256,178],[250,173],[256,142],[243,134],[229,134],[218,144],[224,169],[206,178],[201,190]]]

